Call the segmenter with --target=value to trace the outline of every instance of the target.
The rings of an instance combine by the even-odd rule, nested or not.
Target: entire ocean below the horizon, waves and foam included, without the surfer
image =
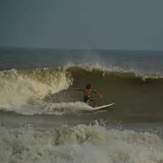
[[[0,160],[163,163],[162,99],[161,51],[1,48]]]

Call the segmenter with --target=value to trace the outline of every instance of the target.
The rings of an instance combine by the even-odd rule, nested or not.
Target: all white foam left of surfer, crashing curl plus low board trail
[[[52,72],[51,72],[52,71]],[[44,97],[67,89],[72,79],[65,70],[17,70],[0,72],[0,109],[23,115],[55,114],[89,109],[83,102],[45,102]]]

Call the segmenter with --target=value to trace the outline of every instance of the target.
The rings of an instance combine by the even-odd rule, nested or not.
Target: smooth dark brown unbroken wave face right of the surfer
[[[74,87],[92,83],[102,93],[96,97],[98,105],[115,102],[117,112],[130,117],[162,119],[163,78],[135,72],[101,69],[70,68]],[[116,112],[116,111],[115,111]]]

